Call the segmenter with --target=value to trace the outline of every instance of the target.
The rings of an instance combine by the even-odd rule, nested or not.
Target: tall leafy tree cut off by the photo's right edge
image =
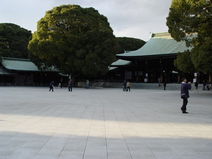
[[[190,57],[196,70],[212,73],[211,0],[173,0],[167,26],[176,41],[183,40],[193,47]]]

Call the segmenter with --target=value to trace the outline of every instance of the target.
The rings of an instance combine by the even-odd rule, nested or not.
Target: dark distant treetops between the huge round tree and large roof
[[[129,38],[129,37],[117,37],[116,39],[120,45],[120,49],[118,50],[118,53],[137,50],[146,43],[145,41],[141,39]]]

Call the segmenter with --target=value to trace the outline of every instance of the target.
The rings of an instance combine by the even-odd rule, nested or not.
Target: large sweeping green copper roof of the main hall
[[[190,50],[191,48],[186,47],[184,41],[177,42],[169,33],[154,33],[152,34],[152,38],[140,49],[129,53],[117,54],[117,57],[170,55],[184,52],[188,49]]]

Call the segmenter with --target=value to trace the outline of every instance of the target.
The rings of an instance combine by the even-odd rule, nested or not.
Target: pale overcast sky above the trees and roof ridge
[[[0,23],[14,23],[32,32],[45,12],[63,4],[93,7],[108,18],[116,37],[148,41],[150,32],[167,32],[172,0],[0,0]]]

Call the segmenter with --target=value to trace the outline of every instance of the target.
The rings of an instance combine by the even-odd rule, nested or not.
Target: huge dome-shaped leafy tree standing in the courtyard
[[[38,21],[28,48],[39,67],[62,73],[103,75],[115,61],[118,44],[107,18],[94,8],[62,5]]]

